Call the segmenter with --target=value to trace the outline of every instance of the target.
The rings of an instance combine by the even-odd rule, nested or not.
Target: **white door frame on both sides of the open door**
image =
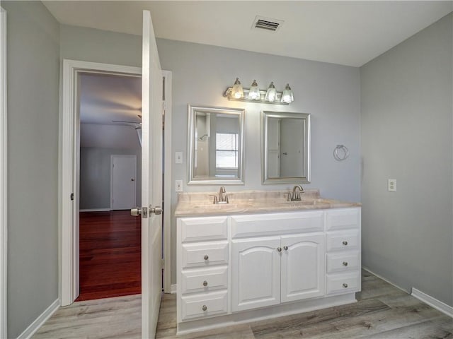
[[[78,212],[79,192],[79,116],[77,114],[77,81],[81,73],[110,73],[129,76],[142,76],[142,68],[135,66],[122,66],[103,64],[90,61],[64,59],[62,76],[62,105],[59,114],[59,297],[62,306],[72,304],[79,292],[79,258],[78,258]],[[166,73],[166,72],[163,72]],[[166,78],[166,98],[171,100],[171,72]],[[168,74],[167,73],[167,74]],[[165,114],[166,133],[164,150],[165,159],[171,159],[171,101],[166,105]],[[168,134],[168,135],[167,135]],[[166,164],[167,165],[167,164]],[[166,172],[171,173],[171,162],[166,167]],[[164,177],[164,192],[171,192],[171,175]],[[75,195],[71,201],[71,194]],[[168,196],[168,195],[167,195]],[[164,246],[165,246],[165,272],[164,286],[170,286],[171,273],[171,218],[168,198],[164,205]],[[74,211],[74,213],[73,213]],[[165,237],[165,234],[167,237]],[[167,278],[168,275],[168,278]],[[169,292],[170,287],[168,287]],[[167,292],[167,288],[166,291]]]

